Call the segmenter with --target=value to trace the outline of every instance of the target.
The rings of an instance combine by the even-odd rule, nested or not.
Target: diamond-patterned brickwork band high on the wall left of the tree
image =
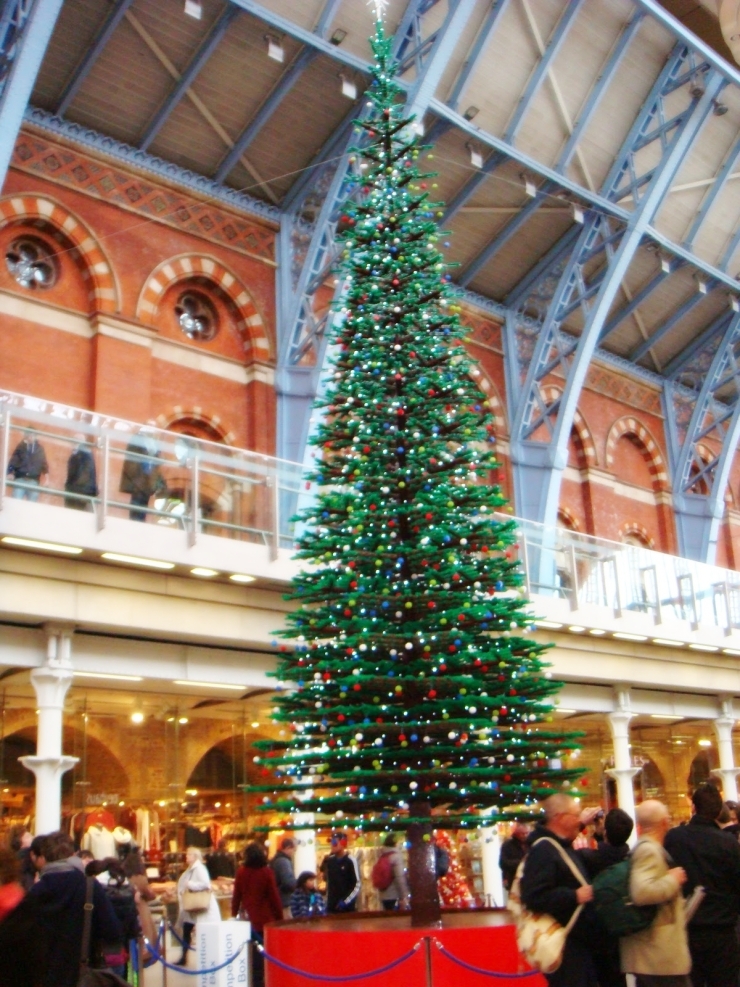
[[[275,234],[272,230],[37,134],[25,131],[20,134],[12,167],[223,244],[231,250],[274,262]]]

